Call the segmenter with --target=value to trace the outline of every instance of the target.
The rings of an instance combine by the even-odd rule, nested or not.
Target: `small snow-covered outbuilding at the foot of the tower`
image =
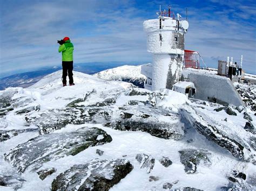
[[[193,82],[177,82],[173,85],[173,90],[185,94],[187,97],[193,98],[196,95],[196,88]]]

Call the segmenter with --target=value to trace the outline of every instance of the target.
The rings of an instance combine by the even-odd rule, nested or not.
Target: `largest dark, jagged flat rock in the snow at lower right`
[[[194,150],[194,149],[184,149],[179,151],[180,153],[180,162],[185,166],[185,172],[187,174],[192,174],[197,171],[197,165],[201,160],[204,161],[204,164],[207,166],[211,165],[210,159],[208,159],[208,153],[205,150]]]

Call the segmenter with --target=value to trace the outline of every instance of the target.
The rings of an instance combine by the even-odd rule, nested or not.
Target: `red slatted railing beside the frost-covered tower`
[[[199,53],[197,51],[189,51],[185,49],[184,67],[200,69]]]

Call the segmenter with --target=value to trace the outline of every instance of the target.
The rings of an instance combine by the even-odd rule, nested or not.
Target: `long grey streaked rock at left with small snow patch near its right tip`
[[[98,136],[103,138],[97,139]],[[65,155],[76,155],[89,146],[111,141],[111,136],[102,129],[85,127],[74,132],[51,133],[32,138],[4,155],[18,172],[24,172],[29,166],[32,169],[38,169],[44,162],[56,160]]]

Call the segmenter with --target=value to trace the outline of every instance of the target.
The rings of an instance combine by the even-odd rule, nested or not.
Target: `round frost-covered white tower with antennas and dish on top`
[[[151,90],[161,88],[172,89],[174,83],[181,77],[181,67],[184,59],[184,34],[188,22],[180,20],[181,16],[161,11],[158,19],[145,20],[144,31],[147,33],[147,52],[153,54]]]

